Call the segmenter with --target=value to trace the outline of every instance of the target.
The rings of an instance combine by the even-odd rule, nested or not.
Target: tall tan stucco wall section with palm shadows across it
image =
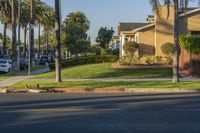
[[[161,6],[160,17],[156,15],[156,34],[155,34],[155,46],[156,46],[156,56],[165,56],[161,50],[161,46],[166,43],[174,42],[173,37],[173,25],[174,25],[174,9],[173,6],[169,8],[169,16],[167,17],[168,9],[166,6]]]

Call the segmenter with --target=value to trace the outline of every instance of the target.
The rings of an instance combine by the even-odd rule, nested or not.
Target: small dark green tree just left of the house
[[[107,27],[105,28],[100,28],[98,32],[98,36],[96,38],[96,42],[105,50],[108,50],[109,48],[109,43],[112,40],[114,34],[113,28],[108,29]]]

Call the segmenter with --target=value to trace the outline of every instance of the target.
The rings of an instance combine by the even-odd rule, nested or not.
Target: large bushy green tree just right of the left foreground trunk
[[[66,33],[65,43],[68,50],[75,54],[86,53],[90,46],[87,31],[90,22],[82,12],[70,13],[64,22],[64,31]]]

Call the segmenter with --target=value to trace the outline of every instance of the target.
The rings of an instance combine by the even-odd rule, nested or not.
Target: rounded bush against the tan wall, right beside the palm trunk
[[[170,42],[167,42],[161,46],[161,50],[165,55],[173,55],[174,45]]]

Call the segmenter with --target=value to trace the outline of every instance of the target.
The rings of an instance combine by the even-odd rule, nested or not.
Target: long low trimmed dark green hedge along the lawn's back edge
[[[116,62],[117,56],[115,55],[99,55],[99,56],[86,56],[79,57],[74,59],[67,59],[61,62],[62,67],[70,67],[76,65],[84,65],[84,64],[94,64],[94,63],[103,63],[103,62]],[[50,69],[55,69],[55,63],[49,64]]]

